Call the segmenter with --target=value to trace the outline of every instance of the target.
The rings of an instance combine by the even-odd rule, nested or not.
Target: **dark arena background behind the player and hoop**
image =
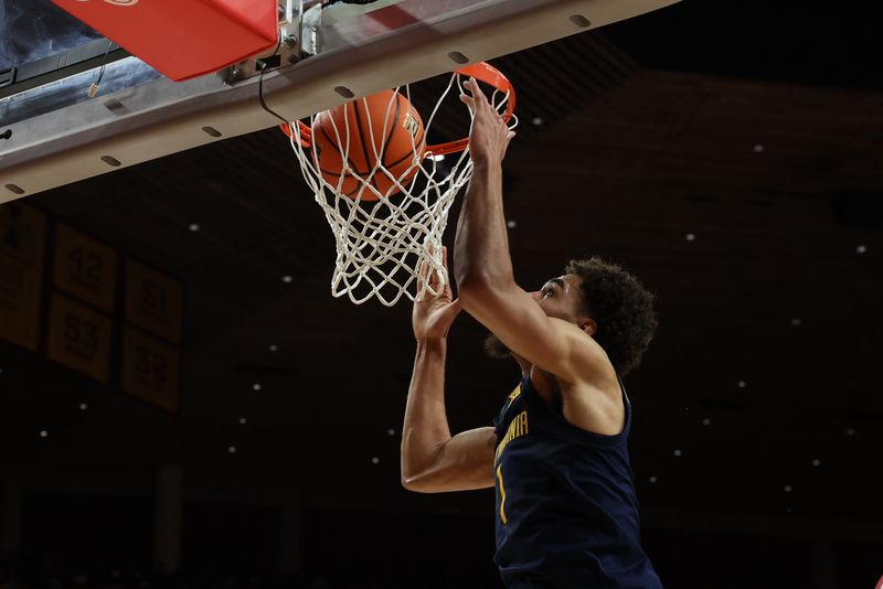
[[[685,0],[492,62],[519,282],[599,254],[656,293],[626,386],[670,588],[883,576],[883,68],[857,10]],[[330,296],[278,130],[10,202],[0,232],[0,587],[501,587],[492,490],[401,485],[409,303]],[[518,378],[483,334],[451,330],[453,431]]]

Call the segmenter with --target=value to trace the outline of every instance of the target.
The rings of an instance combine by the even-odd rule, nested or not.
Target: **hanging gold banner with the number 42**
[[[97,239],[55,224],[55,286],[107,312],[114,310],[117,253]]]

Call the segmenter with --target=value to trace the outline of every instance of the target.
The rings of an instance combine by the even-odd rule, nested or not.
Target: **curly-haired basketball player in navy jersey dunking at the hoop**
[[[402,482],[423,493],[494,486],[494,561],[509,588],[660,588],[640,546],[631,406],[620,381],[652,338],[652,296],[598,258],[571,261],[535,292],[515,283],[501,181],[514,133],[474,79],[466,88],[475,172],[454,250],[459,298],[446,288],[414,304]],[[435,280],[425,267],[421,274]],[[446,335],[460,309],[491,331],[489,347],[511,355],[522,378],[496,427],[451,437]]]

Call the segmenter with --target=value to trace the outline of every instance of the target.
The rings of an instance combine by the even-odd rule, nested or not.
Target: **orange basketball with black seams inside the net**
[[[325,181],[351,199],[361,186],[355,176],[364,179],[381,194],[398,192],[377,163],[400,183],[407,184],[419,168],[414,163],[415,152],[419,162],[426,151],[419,114],[407,98],[394,90],[372,94],[320,113],[312,122],[312,143]],[[344,169],[343,153],[352,172]],[[365,188],[362,200],[376,201],[377,196]]]

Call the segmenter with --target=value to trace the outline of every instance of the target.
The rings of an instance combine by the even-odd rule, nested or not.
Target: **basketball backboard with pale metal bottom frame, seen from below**
[[[0,1],[9,7],[18,0]],[[175,83],[138,57],[118,54],[104,68],[95,97],[95,61],[36,87],[0,87],[0,203],[275,126],[279,120],[260,105],[258,86],[267,107],[296,120],[677,1],[284,0],[283,58],[278,65],[268,60],[263,76],[248,60]],[[204,42],[224,39],[209,32]],[[109,53],[113,45],[107,47]]]

